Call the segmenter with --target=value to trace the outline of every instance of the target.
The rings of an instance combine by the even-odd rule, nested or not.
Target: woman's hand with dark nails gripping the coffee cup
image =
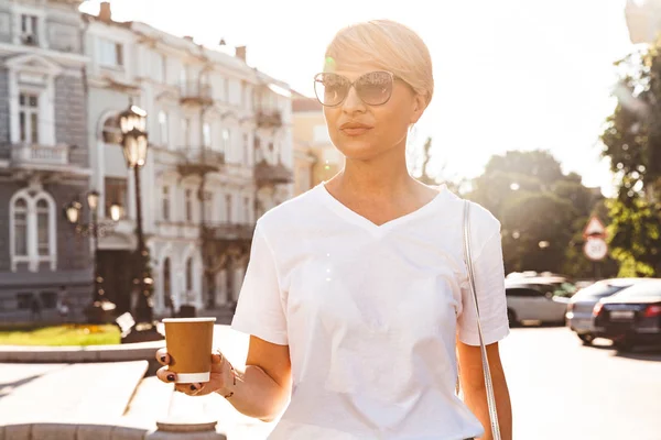
[[[194,384],[176,384],[176,373],[169,370],[171,362],[166,349],[156,351],[156,361],[163,367],[156,372],[156,377],[167,384],[175,384],[174,388],[177,392],[187,394],[188,396],[206,396],[207,394],[219,392],[223,395],[229,394],[230,388],[235,385],[234,369],[218,350],[212,353],[212,374],[209,382]]]

